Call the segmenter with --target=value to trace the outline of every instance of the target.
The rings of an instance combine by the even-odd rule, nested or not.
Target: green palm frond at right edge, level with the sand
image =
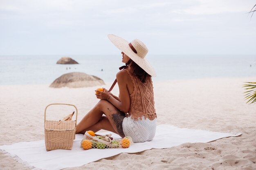
[[[251,102],[250,104],[256,102],[256,82],[244,82],[247,84],[244,84],[243,87],[246,91],[245,94],[245,100],[248,100],[246,103]]]

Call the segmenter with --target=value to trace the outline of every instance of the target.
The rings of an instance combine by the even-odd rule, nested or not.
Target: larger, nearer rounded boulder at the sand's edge
[[[79,87],[91,87],[105,84],[102,79],[94,75],[88,75],[81,72],[66,73],[58,77],[49,87],[52,88],[79,88]]]

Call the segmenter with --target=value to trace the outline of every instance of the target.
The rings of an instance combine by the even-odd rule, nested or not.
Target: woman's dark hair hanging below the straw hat
[[[132,61],[132,59],[130,59],[127,64],[130,64],[129,67],[131,75],[137,76],[142,83],[146,82],[147,77],[151,77],[151,75],[149,75],[138,64]]]

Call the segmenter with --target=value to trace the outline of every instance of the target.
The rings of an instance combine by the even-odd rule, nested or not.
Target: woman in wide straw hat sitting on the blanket
[[[155,136],[156,113],[151,76],[156,76],[153,67],[145,59],[148,49],[140,40],[127,42],[108,35],[110,41],[122,52],[126,68],[117,73],[119,97],[97,91],[101,99],[76,126],[76,133],[101,129],[112,131],[121,137],[130,136],[133,142],[150,141]]]

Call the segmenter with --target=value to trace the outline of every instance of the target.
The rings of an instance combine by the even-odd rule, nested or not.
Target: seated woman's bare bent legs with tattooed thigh
[[[106,115],[108,121],[100,121],[102,115]],[[123,120],[124,120],[124,113],[118,110],[114,105],[112,105],[107,100],[100,100],[92,110],[90,110],[83,119],[77,124],[76,126],[76,133],[84,132],[89,130],[89,128],[95,128],[95,130],[99,129],[111,129],[109,128],[108,122],[111,124],[112,128],[115,132],[124,137],[123,132]],[[99,124],[97,125],[97,123]],[[95,125],[95,126],[93,126]],[[100,125],[100,126],[99,126]],[[90,129],[91,130],[91,129]],[[112,131],[112,130],[110,130]],[[113,132],[113,131],[112,131]]]

